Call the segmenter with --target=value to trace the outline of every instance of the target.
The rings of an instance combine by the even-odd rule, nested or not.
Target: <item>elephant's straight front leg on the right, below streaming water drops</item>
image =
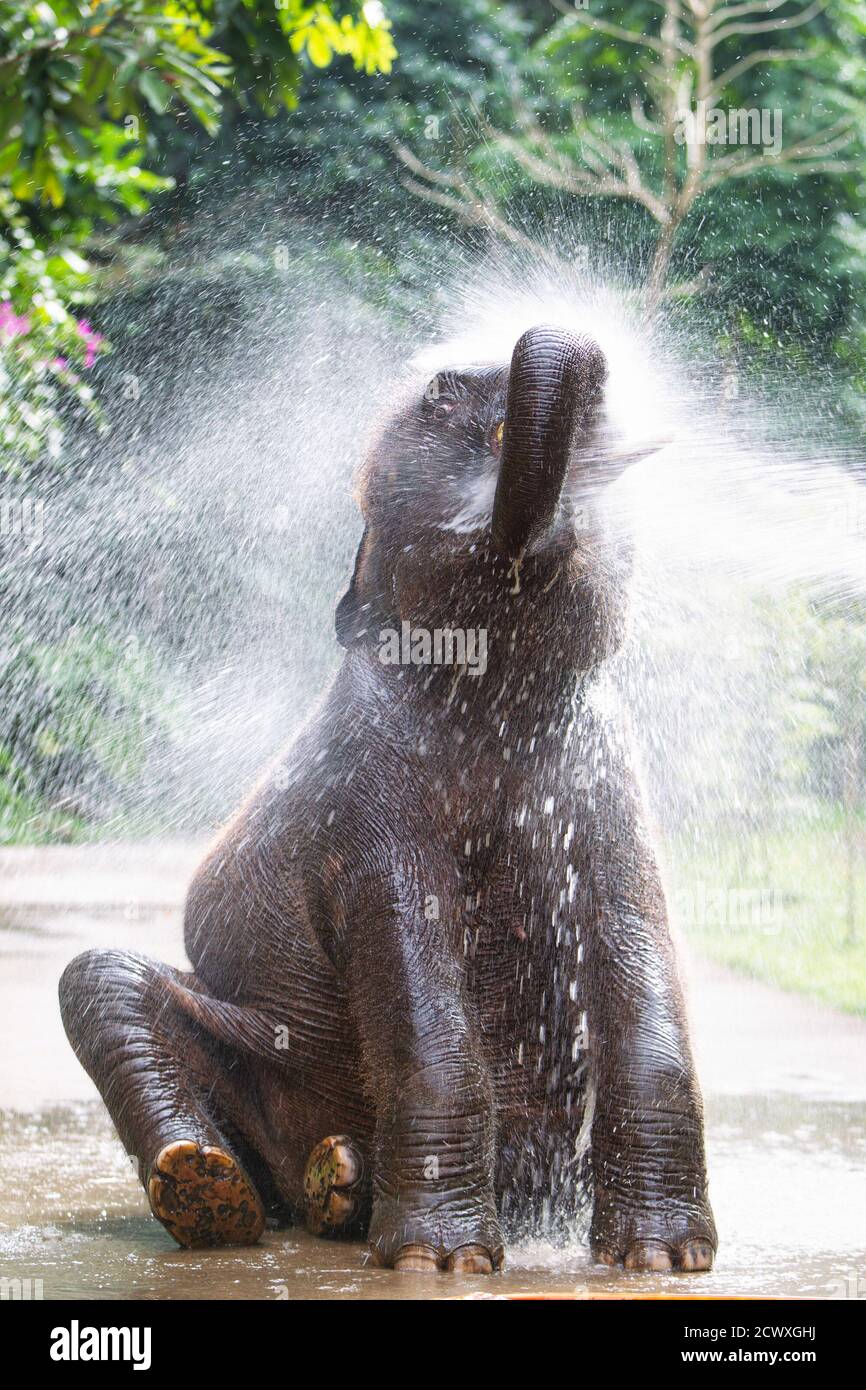
[[[627,1269],[709,1269],[717,1241],[703,1108],[664,898],[649,851],[630,848],[595,880],[587,942],[591,1244],[602,1264]]]

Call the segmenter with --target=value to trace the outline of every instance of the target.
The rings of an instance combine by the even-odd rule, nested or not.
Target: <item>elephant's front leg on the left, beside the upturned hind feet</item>
[[[350,963],[377,1112],[370,1248],[393,1269],[489,1273],[503,1254],[491,1081],[459,948],[406,890],[366,898]]]

